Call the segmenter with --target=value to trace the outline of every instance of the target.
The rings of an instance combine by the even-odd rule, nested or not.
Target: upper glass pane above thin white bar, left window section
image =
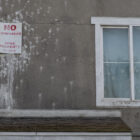
[[[128,28],[103,28],[105,62],[129,62]]]

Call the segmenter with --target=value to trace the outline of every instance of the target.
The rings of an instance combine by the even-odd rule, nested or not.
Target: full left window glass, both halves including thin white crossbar
[[[128,28],[103,28],[104,97],[130,98]]]

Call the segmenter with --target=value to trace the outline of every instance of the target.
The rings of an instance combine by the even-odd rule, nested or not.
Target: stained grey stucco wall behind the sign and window
[[[140,17],[139,7],[139,0],[0,0],[0,21],[23,23],[22,54],[0,55],[0,108],[96,108],[90,18]],[[138,136],[140,109],[122,113]]]

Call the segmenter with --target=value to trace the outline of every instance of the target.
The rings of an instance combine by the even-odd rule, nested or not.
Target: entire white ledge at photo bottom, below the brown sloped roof
[[[132,140],[131,133],[0,133],[1,140]]]

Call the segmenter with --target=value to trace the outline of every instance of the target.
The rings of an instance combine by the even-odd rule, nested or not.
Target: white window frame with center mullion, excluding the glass
[[[140,107],[140,100],[135,100],[133,62],[133,26],[140,26],[140,18],[91,17],[91,24],[95,24],[96,105],[99,107]],[[128,27],[130,98],[104,98],[103,26]]]

